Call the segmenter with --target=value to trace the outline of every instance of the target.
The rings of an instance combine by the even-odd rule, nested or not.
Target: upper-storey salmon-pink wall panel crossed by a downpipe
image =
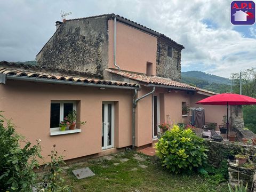
[[[108,21],[109,68],[114,66],[114,21]],[[116,22],[116,63],[122,70],[146,74],[147,62],[153,63],[156,75],[157,38],[131,26]]]

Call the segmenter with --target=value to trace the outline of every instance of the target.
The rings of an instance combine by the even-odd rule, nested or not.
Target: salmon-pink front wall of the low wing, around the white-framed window
[[[7,81],[0,84],[0,110],[12,118],[17,132],[32,143],[42,140],[42,155],[47,157],[55,144],[57,150],[66,149],[65,159],[101,152],[102,101],[115,102],[115,147],[132,145],[131,90],[89,88],[83,86],[53,85]],[[51,100],[80,101],[82,132],[50,136]],[[117,130],[118,129],[118,130]]]

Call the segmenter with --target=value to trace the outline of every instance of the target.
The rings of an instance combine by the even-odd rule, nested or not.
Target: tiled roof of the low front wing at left
[[[55,79],[59,81],[71,81],[71,82],[81,82],[81,83],[90,83],[90,84],[139,87],[139,85],[137,84],[118,82],[118,81],[108,81],[105,79],[90,77],[92,76],[91,74],[78,73],[77,71],[45,69],[45,68],[40,68],[38,66],[23,65],[23,64],[17,65],[16,63],[6,62],[6,61],[0,62],[0,74],[44,78],[44,79]]]

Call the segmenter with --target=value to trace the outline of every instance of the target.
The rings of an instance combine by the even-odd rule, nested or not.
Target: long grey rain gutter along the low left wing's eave
[[[63,81],[63,80],[57,80],[57,79],[45,79],[45,78],[17,76],[17,75],[6,75],[5,78],[6,79],[12,79],[12,80],[18,80],[18,81],[28,81],[28,82],[38,82],[38,83],[52,83],[52,84],[62,84],[62,85],[78,85],[78,86],[88,86],[88,87],[104,87],[104,88],[111,88],[111,89],[126,89],[126,90],[140,89],[139,87],[131,87],[131,86],[83,83],[83,82]],[[3,79],[4,79],[4,77],[3,77]]]

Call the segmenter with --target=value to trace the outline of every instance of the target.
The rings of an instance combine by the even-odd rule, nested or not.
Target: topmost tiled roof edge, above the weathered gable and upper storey
[[[81,19],[90,19],[90,18],[97,18],[97,17],[109,17],[109,18],[114,18],[116,17],[117,20],[123,21],[123,22],[127,22],[126,24],[131,25],[133,27],[139,27],[142,30],[146,30],[148,33],[153,33],[154,35],[157,35],[159,37],[162,37],[164,39],[167,39],[167,41],[170,41],[171,43],[173,43],[174,45],[176,45],[179,49],[184,49],[185,47],[175,41],[173,41],[170,37],[165,36],[164,34],[158,33],[157,31],[150,29],[146,26],[140,25],[140,23],[134,22],[130,19],[124,18],[118,14],[114,14],[114,13],[110,13],[110,14],[101,14],[101,15],[96,15],[96,16],[90,16],[90,17],[84,17],[84,18],[76,18],[76,19],[68,19],[66,21],[73,21],[73,20],[81,20]]]

